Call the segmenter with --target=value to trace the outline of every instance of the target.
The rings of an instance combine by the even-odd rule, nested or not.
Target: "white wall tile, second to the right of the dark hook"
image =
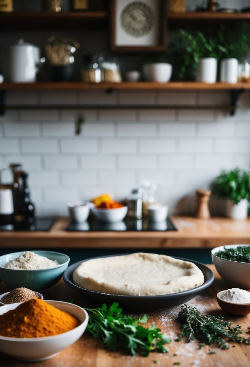
[[[154,137],[156,135],[155,123],[119,123],[118,137]]]

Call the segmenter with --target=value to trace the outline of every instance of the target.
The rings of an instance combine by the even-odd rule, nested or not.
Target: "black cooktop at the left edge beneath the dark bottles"
[[[56,217],[30,218],[26,221],[14,222],[14,224],[0,225],[0,230],[11,231],[48,231],[52,228]]]

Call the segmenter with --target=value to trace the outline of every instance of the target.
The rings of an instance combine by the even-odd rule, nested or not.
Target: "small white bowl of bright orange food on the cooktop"
[[[92,207],[90,210],[99,221],[115,223],[126,217],[128,207],[112,200],[103,201],[99,206]]]

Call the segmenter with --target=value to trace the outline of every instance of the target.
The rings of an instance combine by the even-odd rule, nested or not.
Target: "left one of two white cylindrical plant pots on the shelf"
[[[213,57],[199,59],[197,81],[215,83],[217,79],[217,60]]]

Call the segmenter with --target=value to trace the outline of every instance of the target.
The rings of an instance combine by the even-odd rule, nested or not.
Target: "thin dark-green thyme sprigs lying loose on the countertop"
[[[183,324],[177,341],[186,337],[190,342],[196,337],[206,344],[217,344],[221,349],[229,348],[227,341],[250,344],[250,338],[239,336],[242,333],[241,326],[233,326],[231,321],[224,321],[222,315],[203,315],[196,307],[184,304],[177,320]]]

